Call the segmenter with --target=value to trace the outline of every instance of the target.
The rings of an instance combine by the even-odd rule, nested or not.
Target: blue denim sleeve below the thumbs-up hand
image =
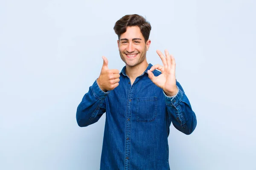
[[[106,111],[105,98],[109,93],[109,91],[102,91],[99,88],[97,80],[95,80],[77,107],[76,121],[80,127],[98,122],[99,118]]]

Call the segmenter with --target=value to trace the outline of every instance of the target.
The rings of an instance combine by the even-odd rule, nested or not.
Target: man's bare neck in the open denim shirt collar
[[[145,60],[134,67],[130,67],[126,65],[126,75],[130,78],[131,84],[135,81],[137,77],[139,77],[148,67],[148,62]]]

